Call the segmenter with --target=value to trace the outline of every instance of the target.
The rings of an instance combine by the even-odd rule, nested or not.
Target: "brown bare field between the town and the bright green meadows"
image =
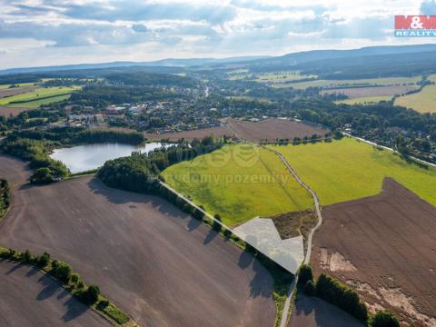
[[[281,119],[266,119],[261,122],[247,122],[228,119],[227,124],[233,129],[238,137],[252,142],[267,140],[273,142],[276,139],[293,140],[295,136],[304,137],[318,134],[323,136],[328,131],[322,127],[292,122]]]

